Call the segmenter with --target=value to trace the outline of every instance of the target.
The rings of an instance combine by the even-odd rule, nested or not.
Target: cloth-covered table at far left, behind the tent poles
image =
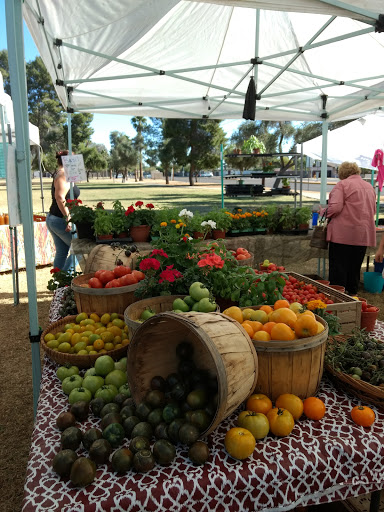
[[[34,222],[36,265],[52,263],[55,245],[45,222]],[[17,227],[17,254],[19,268],[25,268],[24,237],[22,226]],[[9,226],[0,225],[0,272],[12,270]]]

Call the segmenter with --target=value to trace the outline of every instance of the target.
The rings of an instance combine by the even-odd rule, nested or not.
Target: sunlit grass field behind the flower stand
[[[43,179],[44,191],[44,210],[48,211],[51,204],[51,182],[49,178]],[[176,184],[175,184],[176,183]],[[190,210],[209,211],[215,207],[221,207],[221,187],[215,184],[198,183],[191,187],[187,183],[173,182],[171,185],[165,185],[163,182],[145,180],[144,182],[134,183],[128,181],[121,183],[120,180],[113,183],[109,179],[93,179],[89,183],[80,183],[80,199],[87,206],[95,206],[98,201],[103,201],[107,209],[112,208],[112,203],[116,199],[128,207],[136,201],[151,202],[156,208],[165,206],[174,206],[180,209],[188,208]],[[40,182],[38,179],[32,180],[32,196],[34,213],[42,213],[42,200],[40,191]],[[268,204],[292,204],[293,196],[273,196],[273,197],[231,197],[224,196],[224,206],[228,209],[235,207],[258,207]],[[303,198],[303,205],[312,205],[313,199]],[[7,194],[5,180],[0,180],[0,212],[7,212]]]

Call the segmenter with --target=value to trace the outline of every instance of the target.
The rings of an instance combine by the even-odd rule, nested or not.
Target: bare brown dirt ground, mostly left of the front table
[[[47,290],[50,268],[36,271],[39,324],[48,324],[52,292]],[[365,265],[363,266],[365,269]],[[312,260],[287,269],[301,274],[317,273],[317,261]],[[12,275],[0,274],[0,482],[3,491],[0,512],[21,510],[24,477],[33,429],[32,360],[29,342],[28,296],[25,271],[20,271],[20,304],[13,305]],[[384,320],[384,294],[361,292],[363,297],[380,308]],[[42,358],[41,354],[41,358]],[[6,492],[4,492],[6,489]],[[336,504],[335,504],[336,505]],[[316,507],[318,510],[319,507]],[[331,510],[328,505],[325,509]],[[312,508],[311,508],[312,510]],[[332,507],[332,510],[336,510]],[[337,510],[342,510],[341,505]]]

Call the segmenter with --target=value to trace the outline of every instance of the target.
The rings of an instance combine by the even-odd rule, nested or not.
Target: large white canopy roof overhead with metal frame
[[[253,74],[256,119],[352,119],[384,105],[382,0],[23,6],[59,98],[75,111],[241,119]]]

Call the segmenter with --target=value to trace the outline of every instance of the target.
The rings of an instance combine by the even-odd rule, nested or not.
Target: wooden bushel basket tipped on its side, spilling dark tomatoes
[[[243,327],[221,313],[160,313],[140,326],[129,346],[128,382],[136,403],[149,391],[152,377],[177,371],[176,347],[182,341],[193,345],[196,366],[217,377],[216,414],[206,436],[252,394],[256,351]]]

